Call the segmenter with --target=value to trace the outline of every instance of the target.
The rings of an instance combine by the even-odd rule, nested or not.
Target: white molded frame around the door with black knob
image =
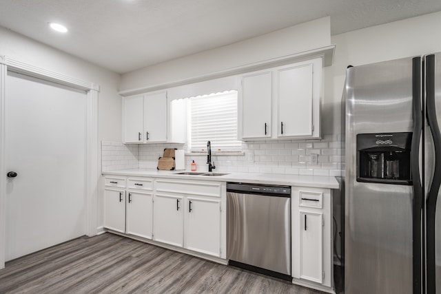
[[[8,71],[44,81],[67,85],[86,92],[85,151],[85,228],[88,236],[96,235],[96,191],[98,184],[98,93],[99,85],[35,67],[0,55],[0,269],[5,267],[6,250],[6,166],[5,166],[5,101]]]

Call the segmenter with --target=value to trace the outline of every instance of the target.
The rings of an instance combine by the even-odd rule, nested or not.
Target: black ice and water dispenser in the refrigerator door
[[[357,135],[357,182],[411,185],[412,133]]]

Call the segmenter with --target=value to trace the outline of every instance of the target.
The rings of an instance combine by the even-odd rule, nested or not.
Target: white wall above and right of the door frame
[[[62,37],[61,37],[62,38]],[[60,40],[62,41],[62,40]],[[93,65],[72,55],[16,34],[0,27],[0,54],[45,70],[78,78],[100,85],[98,98],[98,134],[101,140],[121,140],[121,97],[117,87],[121,76],[97,65]],[[99,149],[98,170],[101,174],[101,146]],[[98,225],[103,223],[102,201],[103,182],[101,175],[98,184]]]

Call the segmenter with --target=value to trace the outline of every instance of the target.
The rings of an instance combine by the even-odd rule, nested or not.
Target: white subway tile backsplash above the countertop
[[[326,134],[322,140],[280,140],[244,142],[243,154],[216,156],[212,159],[215,171],[292,174],[314,176],[341,176],[344,174],[345,149],[340,134]],[[102,141],[103,171],[114,169],[156,169],[158,158],[165,148],[186,149],[185,145],[148,144],[124,145],[121,142]],[[250,160],[249,154],[254,154]],[[317,164],[311,163],[311,154],[318,154]],[[185,155],[185,169],[194,160],[200,171],[207,170],[205,154]]]

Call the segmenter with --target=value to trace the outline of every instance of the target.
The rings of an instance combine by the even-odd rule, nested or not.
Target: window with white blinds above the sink
[[[189,151],[206,151],[208,140],[213,152],[240,151],[237,105],[234,90],[189,98]]]

